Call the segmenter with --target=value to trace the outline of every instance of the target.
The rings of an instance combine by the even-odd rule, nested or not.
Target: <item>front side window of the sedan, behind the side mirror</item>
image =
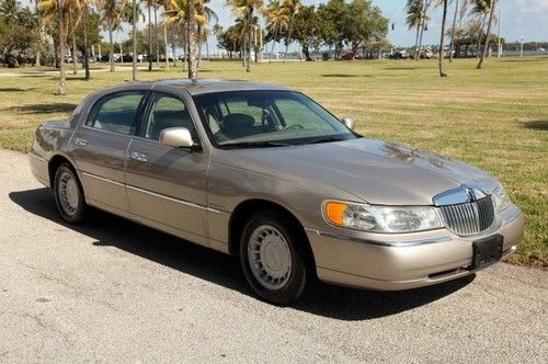
[[[185,127],[197,139],[196,129],[184,102],[169,94],[156,94],[152,106],[142,127],[142,136],[158,140],[163,129],[169,127]]]

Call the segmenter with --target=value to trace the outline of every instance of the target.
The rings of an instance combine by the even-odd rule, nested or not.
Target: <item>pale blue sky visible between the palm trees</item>
[[[302,0],[302,3],[319,4],[326,1]],[[210,7],[219,15],[220,25],[229,26],[232,24],[233,19],[230,9],[224,3],[225,0],[212,0]],[[384,15],[395,25],[395,30],[392,31],[390,27],[388,33],[389,41],[396,46],[413,45],[414,33],[408,31],[406,25],[406,0],[373,0],[373,3],[379,7]],[[449,7],[449,22],[452,22],[454,9]],[[516,42],[522,36],[524,42],[548,42],[548,0],[499,0],[498,9],[501,10],[502,19],[501,35],[507,42]],[[429,31],[424,34],[423,43],[436,44],[439,42],[441,9],[434,9],[430,16],[432,22],[429,24]]]

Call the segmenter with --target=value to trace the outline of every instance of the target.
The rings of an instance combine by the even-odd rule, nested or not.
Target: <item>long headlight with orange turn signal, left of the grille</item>
[[[341,201],[323,203],[323,217],[334,226],[372,232],[411,232],[443,227],[433,207],[372,206]]]

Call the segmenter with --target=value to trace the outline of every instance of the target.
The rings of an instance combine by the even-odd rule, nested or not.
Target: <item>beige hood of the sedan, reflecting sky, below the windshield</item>
[[[308,189],[329,185],[370,204],[431,205],[436,194],[465,183],[487,189],[496,183],[489,173],[454,159],[365,138],[229,152],[235,167]]]

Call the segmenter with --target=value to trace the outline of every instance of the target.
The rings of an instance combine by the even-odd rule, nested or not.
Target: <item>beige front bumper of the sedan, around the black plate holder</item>
[[[517,206],[498,215],[481,235],[459,237],[437,229],[415,234],[383,235],[330,229],[306,229],[318,277],[327,283],[399,291],[427,286],[469,275],[472,241],[503,236],[503,259],[522,241],[525,219]]]

